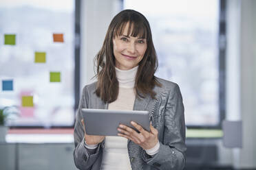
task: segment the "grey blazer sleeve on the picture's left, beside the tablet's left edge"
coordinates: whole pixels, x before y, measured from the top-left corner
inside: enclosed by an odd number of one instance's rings
[[[99,144],[99,146],[96,148],[96,151],[92,151],[92,149],[87,149],[84,146],[84,129],[83,124],[81,123],[82,117],[82,108],[88,108],[87,107],[87,90],[86,86],[83,88],[83,94],[79,101],[78,111],[76,112],[76,123],[74,125],[74,145],[75,149],[73,152],[74,156],[74,162],[78,169],[81,170],[87,170],[91,169],[92,165],[94,165],[94,162],[98,158],[100,152],[102,151],[102,147]]]

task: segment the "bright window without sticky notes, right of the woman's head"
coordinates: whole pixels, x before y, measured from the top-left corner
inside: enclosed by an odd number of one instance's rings
[[[219,1],[124,0],[145,14],[158,54],[158,77],[180,85],[186,125],[220,125]]]

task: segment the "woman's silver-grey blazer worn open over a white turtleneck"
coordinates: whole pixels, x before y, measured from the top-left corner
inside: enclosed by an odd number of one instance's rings
[[[127,143],[132,169],[175,169],[184,168],[186,151],[184,106],[178,84],[157,78],[162,84],[153,90],[156,99],[150,95],[145,98],[136,97],[134,110],[148,110],[151,113],[152,125],[158,130],[160,149],[153,157],[147,155],[144,149],[133,141]],[[98,170],[103,158],[104,142],[92,152],[84,146],[84,130],[81,123],[81,108],[107,109],[105,104],[94,93],[96,83],[83,88],[76,123],[74,127],[74,162],[78,169]],[[117,160],[118,161],[118,160]]]

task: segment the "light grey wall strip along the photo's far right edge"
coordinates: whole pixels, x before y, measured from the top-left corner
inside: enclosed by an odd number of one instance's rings
[[[240,166],[256,168],[256,1],[241,1],[241,115],[243,149]]]

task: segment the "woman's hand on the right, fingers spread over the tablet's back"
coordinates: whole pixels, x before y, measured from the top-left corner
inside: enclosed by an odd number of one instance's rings
[[[118,132],[120,133],[118,133],[118,136],[128,138],[134,143],[140,145],[143,149],[151,149],[156,146],[158,143],[158,130],[156,130],[151,124],[150,132],[147,132],[147,130],[143,129],[141,125],[138,125],[134,121],[131,121],[131,125],[134,125],[140,133],[127,125],[120,124],[118,127]]]

